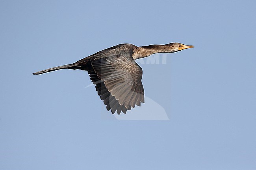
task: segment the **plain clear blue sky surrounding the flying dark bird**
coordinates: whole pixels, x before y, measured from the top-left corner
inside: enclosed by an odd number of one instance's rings
[[[255,9],[255,1],[1,0],[0,169],[255,170]],[[126,114],[167,121],[118,120],[85,71],[32,75],[116,44],[170,42],[195,48],[151,56],[166,63],[138,60],[147,100]]]

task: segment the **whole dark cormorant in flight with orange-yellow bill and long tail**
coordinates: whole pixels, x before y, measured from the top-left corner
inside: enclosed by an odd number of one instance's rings
[[[67,64],[33,73],[39,75],[58,69],[81,69],[88,71],[96,86],[100,99],[107,110],[114,114],[144,103],[144,89],[141,82],[142,68],[135,62],[139,58],[155,53],[174,53],[193,48],[181,43],[137,47],[133,44],[119,44],[85,57],[73,64]]]

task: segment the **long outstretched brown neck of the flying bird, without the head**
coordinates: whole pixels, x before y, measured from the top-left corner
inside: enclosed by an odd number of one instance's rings
[[[150,45],[150,46],[141,46],[134,50],[132,57],[134,60],[139,58],[148,57],[156,53],[172,53],[173,50],[169,49],[168,44],[165,45]]]

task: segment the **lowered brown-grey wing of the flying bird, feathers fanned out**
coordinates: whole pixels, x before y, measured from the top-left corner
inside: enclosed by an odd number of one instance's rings
[[[126,113],[135,104],[140,106],[144,102],[142,69],[130,50],[111,51],[107,57],[92,60],[88,72],[107,110]]]

